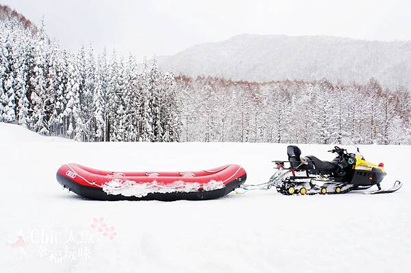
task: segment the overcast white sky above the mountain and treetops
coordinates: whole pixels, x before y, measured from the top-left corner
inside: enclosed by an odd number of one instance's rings
[[[237,34],[411,40],[410,0],[0,0],[69,49],[171,55]]]

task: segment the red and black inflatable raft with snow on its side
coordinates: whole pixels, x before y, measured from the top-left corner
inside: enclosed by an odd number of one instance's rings
[[[232,192],[247,174],[238,165],[198,172],[110,172],[65,164],[57,174],[63,187],[97,200],[206,200]]]

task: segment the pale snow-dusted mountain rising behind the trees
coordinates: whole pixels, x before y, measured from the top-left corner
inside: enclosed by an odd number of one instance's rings
[[[247,81],[284,79],[411,87],[411,42],[379,42],[333,36],[243,34],[223,42],[199,44],[158,58],[161,67],[191,77]]]

